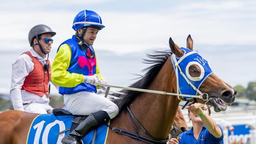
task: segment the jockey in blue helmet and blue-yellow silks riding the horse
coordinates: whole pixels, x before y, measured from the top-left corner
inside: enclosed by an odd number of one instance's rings
[[[72,26],[76,34],[59,46],[52,63],[52,81],[59,86],[67,109],[72,114],[89,115],[62,139],[63,144],[79,144],[90,127],[103,124],[119,112],[115,103],[96,94],[96,86],[93,85],[94,82],[106,83],[100,76],[92,47],[98,31],[104,27],[97,13],[80,11]]]

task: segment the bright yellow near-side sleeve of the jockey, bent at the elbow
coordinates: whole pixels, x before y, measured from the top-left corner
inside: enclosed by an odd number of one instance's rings
[[[71,49],[68,44],[59,47],[52,63],[52,82],[60,87],[75,87],[83,83],[83,75],[67,71],[71,60]]]

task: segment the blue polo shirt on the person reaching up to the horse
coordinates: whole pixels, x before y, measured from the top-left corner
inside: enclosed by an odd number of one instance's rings
[[[217,124],[218,125],[218,124]],[[223,144],[223,129],[220,125],[222,136],[220,138],[216,138],[206,129],[205,126],[202,127],[202,131],[199,134],[198,140],[195,139],[193,133],[193,127],[182,134],[180,134],[181,139],[179,140],[179,144]]]

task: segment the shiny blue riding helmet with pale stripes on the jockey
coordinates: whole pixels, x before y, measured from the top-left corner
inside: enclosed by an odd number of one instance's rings
[[[101,30],[105,26],[102,25],[102,20],[97,13],[94,11],[83,10],[74,18],[72,28],[76,31],[83,27],[93,27]]]

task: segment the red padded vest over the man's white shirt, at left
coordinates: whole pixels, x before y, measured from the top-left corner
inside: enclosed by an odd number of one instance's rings
[[[33,57],[30,52],[24,52],[23,54],[27,54],[31,57],[34,63],[34,69],[28,74],[28,76],[26,76],[21,90],[26,90],[33,94],[37,94],[38,96],[43,96],[44,94],[46,94],[46,96],[49,98],[50,96],[48,94],[48,83],[49,78],[51,78],[51,66],[49,68],[48,77],[47,70],[45,70],[45,68],[36,57]],[[47,60],[47,63],[49,63],[50,65],[49,60]]]

